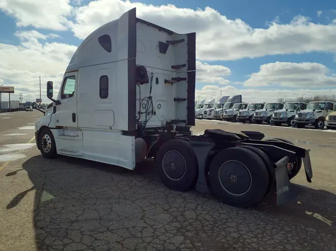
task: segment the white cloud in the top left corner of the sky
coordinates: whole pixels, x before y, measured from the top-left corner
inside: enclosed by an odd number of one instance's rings
[[[66,30],[69,0],[1,0],[0,10],[15,17],[16,26]]]

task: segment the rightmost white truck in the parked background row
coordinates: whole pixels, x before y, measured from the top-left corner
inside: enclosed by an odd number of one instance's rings
[[[316,129],[323,129],[325,127],[326,117],[334,111],[334,102],[309,102],[305,110],[298,112],[294,121],[298,128],[304,128],[306,125],[314,125]]]

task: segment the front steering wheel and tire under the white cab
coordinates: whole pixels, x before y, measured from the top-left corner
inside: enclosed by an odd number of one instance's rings
[[[54,159],[57,157],[54,135],[49,128],[44,128],[38,136],[38,146],[44,158]]]

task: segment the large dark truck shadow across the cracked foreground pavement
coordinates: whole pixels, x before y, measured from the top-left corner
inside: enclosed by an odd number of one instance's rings
[[[336,195],[295,185],[276,206],[225,205],[211,195],[165,188],[151,163],[134,171],[76,158],[23,163],[35,191],[38,250],[333,250]],[[15,172],[7,176],[15,175]],[[34,190],[34,191],[33,191]],[[299,202],[298,202],[299,201]]]

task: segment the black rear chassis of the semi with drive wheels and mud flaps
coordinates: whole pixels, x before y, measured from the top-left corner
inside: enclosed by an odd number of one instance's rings
[[[173,190],[195,188],[215,193],[225,204],[249,207],[276,188],[279,205],[295,198],[290,179],[300,171],[302,160],[307,181],[312,179],[309,149],[286,139],[262,140],[261,132],[209,129],[198,136],[157,136],[147,158],[154,157],[159,179]]]

